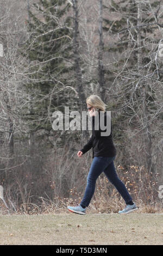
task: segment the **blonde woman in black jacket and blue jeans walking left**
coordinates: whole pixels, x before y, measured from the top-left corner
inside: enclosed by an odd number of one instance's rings
[[[80,202],[80,205],[78,206],[67,206],[67,209],[76,214],[85,214],[86,208],[89,206],[95,192],[96,180],[98,176],[104,172],[108,180],[115,186],[126,203],[126,208],[118,213],[128,214],[129,212],[136,210],[137,207],[126,186],[124,186],[116,173],[114,166],[116,149],[112,141],[112,132],[110,131],[108,136],[102,136],[102,133],[104,134],[106,129],[101,130],[102,124],[100,122],[104,120],[104,126],[107,127],[106,120],[108,120],[107,112],[105,111],[105,103],[99,96],[90,95],[86,99],[86,104],[90,117],[92,118],[92,136],[84,147],[78,151],[77,155],[78,157],[82,157],[92,148],[93,161],[91,163],[89,174],[87,175],[87,185],[82,202]],[[98,118],[98,122],[96,121],[96,118]]]

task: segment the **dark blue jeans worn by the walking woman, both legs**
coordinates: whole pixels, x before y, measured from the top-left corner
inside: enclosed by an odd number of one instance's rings
[[[117,191],[121,194],[126,204],[132,200],[126,186],[118,178],[114,166],[114,157],[108,156],[95,156],[91,163],[89,174],[87,175],[87,185],[84,197],[80,205],[89,206],[92,196],[95,192],[96,180],[98,176],[104,172],[108,180],[115,186]]]

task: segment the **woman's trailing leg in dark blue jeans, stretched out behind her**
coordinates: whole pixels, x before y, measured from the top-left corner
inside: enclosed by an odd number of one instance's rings
[[[104,170],[104,173],[106,177],[109,179],[109,181],[115,186],[117,191],[121,194],[126,204],[132,202],[132,198],[126,188],[124,186],[123,182],[118,178],[118,175],[116,173],[116,169],[114,166],[114,161],[112,161],[109,166],[107,166]]]

